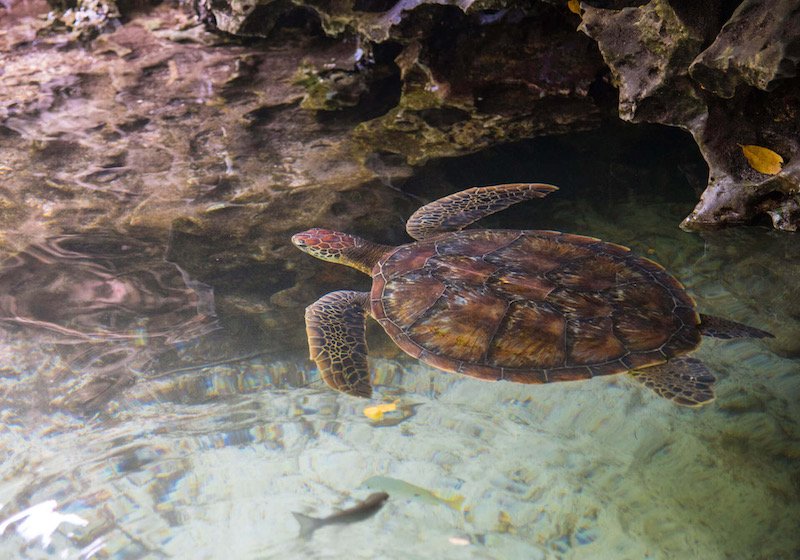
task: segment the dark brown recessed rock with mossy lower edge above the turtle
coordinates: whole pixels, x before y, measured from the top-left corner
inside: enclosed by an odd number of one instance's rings
[[[525,14],[418,8],[393,30],[402,90],[395,107],[359,125],[363,146],[411,165],[500,142],[594,127],[590,89],[603,72],[591,42],[542,4]]]

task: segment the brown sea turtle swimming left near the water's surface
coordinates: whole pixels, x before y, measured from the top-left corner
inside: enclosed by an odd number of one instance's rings
[[[630,372],[686,406],[714,398],[714,375],[684,356],[701,335],[772,335],[699,314],[660,265],[593,237],[541,230],[461,231],[557,187],[474,187],[431,202],[406,224],[414,243],[390,247],[310,229],[301,250],[372,276],[370,293],[329,293],[306,309],[311,359],[339,391],[371,395],[365,318],[405,352],[484,380],[547,383]]]

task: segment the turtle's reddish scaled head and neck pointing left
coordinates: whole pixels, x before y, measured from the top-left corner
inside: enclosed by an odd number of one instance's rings
[[[294,234],[292,243],[313,257],[346,264],[366,274],[371,273],[372,267],[388,249],[355,235],[320,228]]]

